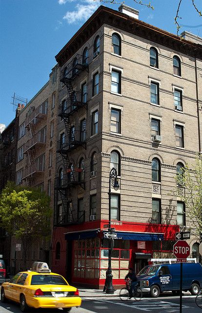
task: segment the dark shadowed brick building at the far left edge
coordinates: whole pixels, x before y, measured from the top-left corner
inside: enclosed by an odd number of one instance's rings
[[[0,192],[8,180],[15,180],[19,114],[21,110],[22,107],[18,104],[15,118],[0,134]],[[0,253],[3,255],[7,268],[10,267],[10,246],[11,237],[5,229],[0,227]]]

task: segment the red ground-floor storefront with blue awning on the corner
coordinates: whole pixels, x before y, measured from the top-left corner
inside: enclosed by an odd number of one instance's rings
[[[102,220],[57,227],[53,234],[52,271],[74,284],[102,288],[108,266],[108,240],[103,238],[107,223]],[[112,252],[113,285],[117,287],[124,285],[128,266],[138,272],[155,253],[171,255],[172,242],[179,231],[178,225],[117,221],[112,221],[112,227],[119,234]]]

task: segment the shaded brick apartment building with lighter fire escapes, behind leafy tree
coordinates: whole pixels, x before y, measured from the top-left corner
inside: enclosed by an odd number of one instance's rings
[[[16,164],[16,184],[37,186],[51,198],[54,211],[54,178],[56,168],[56,137],[58,124],[59,67],[56,65],[49,81],[22,109],[19,116],[19,133]],[[11,266],[13,271],[22,268],[22,250],[15,251],[12,238]],[[27,266],[33,261],[51,262],[51,241],[33,245]]]

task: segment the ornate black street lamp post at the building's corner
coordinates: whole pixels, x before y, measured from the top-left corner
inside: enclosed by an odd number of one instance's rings
[[[111,177],[112,177],[112,171],[111,169],[109,174],[109,229],[108,231],[111,231]],[[107,279],[107,287],[106,287],[106,293],[114,294],[114,287],[112,285],[112,262],[111,262],[111,239],[108,238],[108,268],[106,273],[106,279]]]

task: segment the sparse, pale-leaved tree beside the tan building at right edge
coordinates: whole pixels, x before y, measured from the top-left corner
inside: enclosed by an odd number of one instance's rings
[[[202,234],[202,157],[197,156],[193,168],[189,165],[176,176],[177,196],[185,203],[186,216],[190,221],[193,234],[200,240]]]

